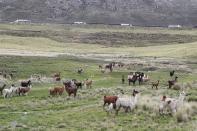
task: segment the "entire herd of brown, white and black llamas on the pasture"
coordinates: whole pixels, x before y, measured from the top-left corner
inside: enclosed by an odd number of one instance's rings
[[[106,64],[104,66],[99,65],[99,69],[105,69],[109,70],[110,72],[113,71],[114,66],[123,67],[124,65],[121,63],[110,63]],[[77,73],[81,74],[83,73],[83,69],[80,68]],[[170,72],[170,77],[172,78],[174,76],[175,71]],[[35,77],[35,76],[34,76]],[[40,76],[37,76],[39,79]],[[61,75],[60,72],[55,73],[51,76],[55,81],[61,81]],[[125,84],[125,76],[122,75],[122,84]],[[144,84],[146,82],[150,82],[150,78],[148,75],[146,75],[144,72],[130,72],[127,77],[128,85],[135,86],[136,82],[138,81],[139,85]],[[171,79],[168,82],[169,89],[173,86],[177,85],[178,77],[175,76],[174,79]],[[53,88],[49,88],[49,95],[50,96],[61,96],[64,92],[67,92],[68,96],[70,97],[73,95],[76,97],[78,89],[82,89],[82,86],[86,86],[86,88],[92,87],[92,80],[86,79],[85,81],[78,81],[76,79],[67,80],[63,82],[62,86],[55,86]],[[152,89],[156,88],[158,90],[160,80],[150,82],[152,85]],[[21,81],[20,86],[11,85],[9,89],[5,89],[6,84],[3,84],[0,86],[0,92],[1,95],[3,95],[4,98],[10,98],[12,96],[21,96],[21,95],[27,95],[28,92],[30,92],[32,88],[32,82],[31,80],[27,81]],[[112,95],[112,96],[104,96],[103,101],[103,108],[108,113],[112,113],[112,111],[115,111],[115,114],[118,115],[118,112],[120,109],[124,109],[125,112],[131,112],[136,108],[136,105],[138,103],[138,97],[141,91],[138,91],[134,89],[130,95],[128,96],[121,96],[121,95]],[[165,110],[170,110],[172,113],[176,113],[180,106],[183,105],[184,98],[186,96],[186,93],[182,91],[179,95],[179,98],[170,98],[167,96],[163,96],[162,100],[160,101],[160,105],[158,107],[159,112],[162,114]],[[106,107],[107,104],[107,107]]]

